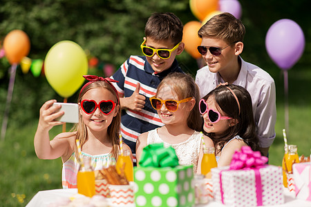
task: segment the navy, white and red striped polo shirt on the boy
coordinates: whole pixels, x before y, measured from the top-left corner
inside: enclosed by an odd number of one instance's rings
[[[140,95],[146,97],[146,103],[141,111],[130,109],[122,111],[120,132],[124,142],[132,150],[134,162],[136,161],[135,147],[138,136],[143,132],[163,126],[158,113],[151,106],[149,97],[156,95],[158,85],[170,72],[182,72],[176,59],[171,68],[156,74],[145,56],[131,56],[111,77],[119,81],[113,83],[113,86],[123,97],[131,97],[137,83],[140,83]]]

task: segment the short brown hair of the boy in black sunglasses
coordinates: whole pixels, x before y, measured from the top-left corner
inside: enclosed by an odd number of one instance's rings
[[[243,41],[245,26],[234,15],[224,12],[211,17],[204,26],[198,30],[198,36],[223,39],[228,44],[234,41]]]

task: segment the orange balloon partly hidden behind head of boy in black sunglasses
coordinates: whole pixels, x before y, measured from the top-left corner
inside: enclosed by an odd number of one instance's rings
[[[201,39],[198,37],[198,30],[201,28],[201,23],[199,21],[189,21],[185,24],[182,36],[182,42],[185,43],[185,50],[195,59],[201,57],[197,50],[200,46]]]

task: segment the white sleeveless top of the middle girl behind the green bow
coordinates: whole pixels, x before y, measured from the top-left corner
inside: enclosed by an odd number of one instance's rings
[[[147,144],[163,143],[164,147],[171,146],[176,151],[179,164],[193,165],[194,172],[196,172],[198,168],[198,157],[200,155],[200,146],[202,142],[202,135],[200,132],[194,131],[189,139],[182,141],[181,143],[168,144],[159,137],[157,130],[158,128],[148,132]]]

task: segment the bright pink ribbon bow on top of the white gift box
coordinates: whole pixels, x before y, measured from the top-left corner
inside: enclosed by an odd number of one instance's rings
[[[261,156],[261,152],[253,151],[249,146],[243,146],[241,152],[234,152],[230,164],[230,170],[241,170],[243,168],[256,168],[264,166],[267,157]]]

